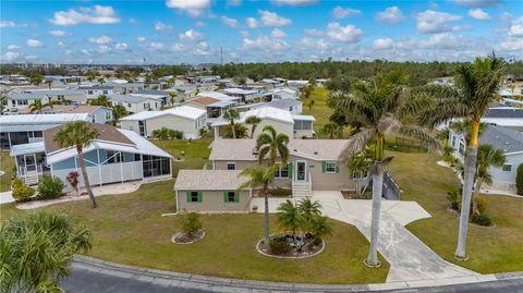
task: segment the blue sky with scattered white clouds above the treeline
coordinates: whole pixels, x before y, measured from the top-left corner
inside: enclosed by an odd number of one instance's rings
[[[1,1],[2,62],[523,59],[523,2]]]

